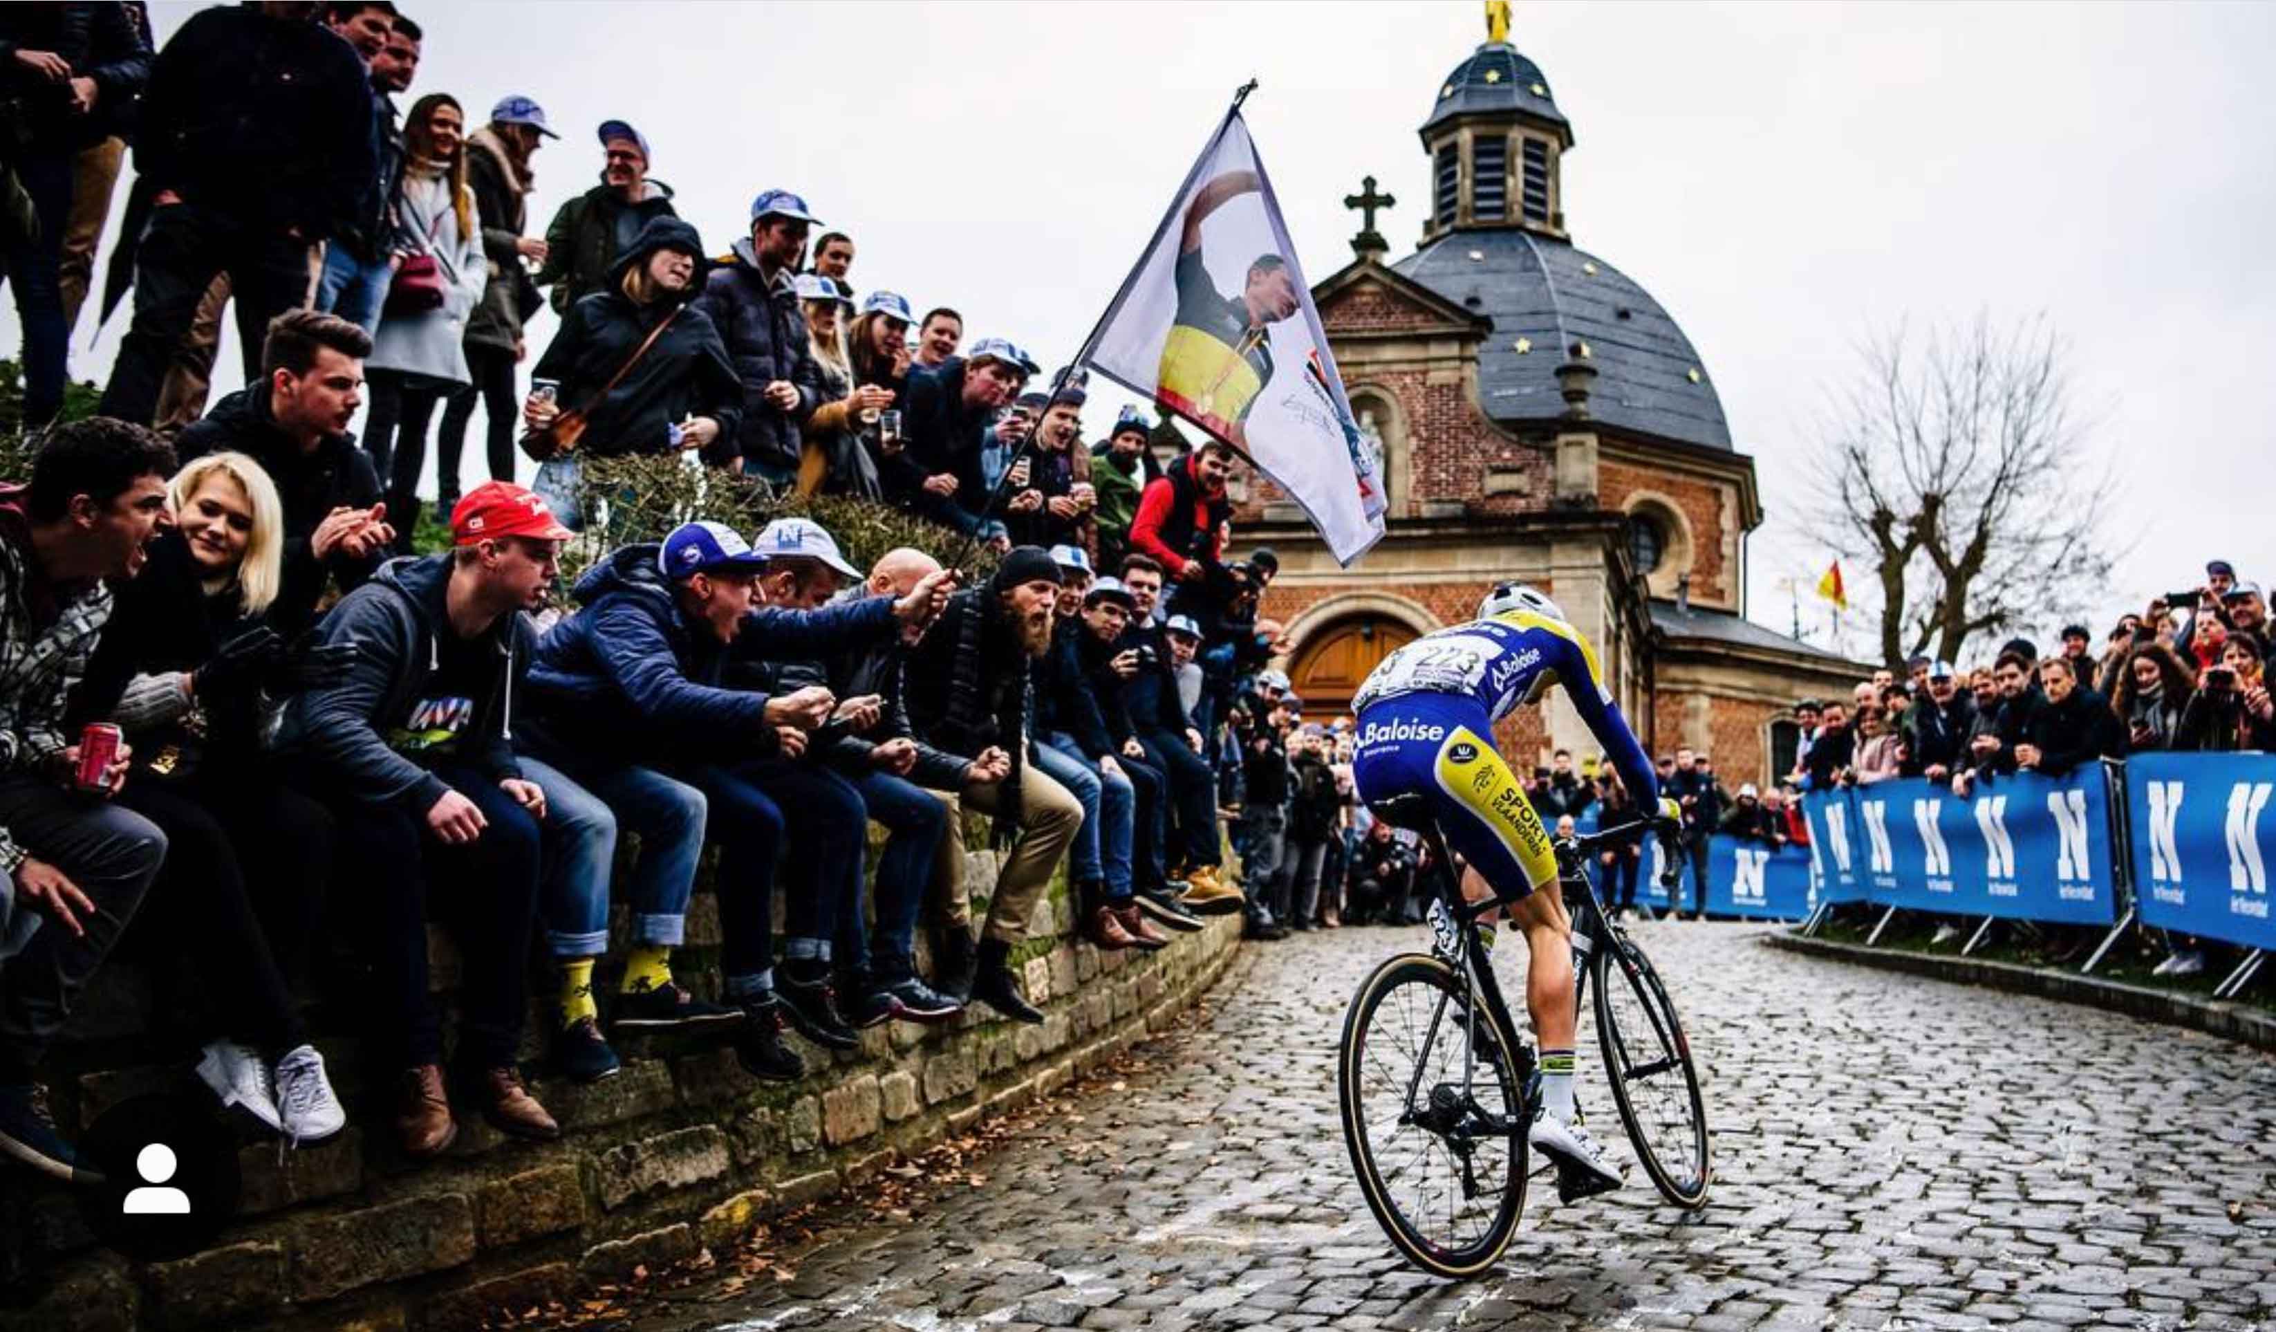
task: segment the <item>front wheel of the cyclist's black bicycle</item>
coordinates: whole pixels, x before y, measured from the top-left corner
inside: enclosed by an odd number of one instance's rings
[[[1611,936],[1595,984],[1595,1038],[1605,1079],[1636,1159],[1677,1207],[1707,1202],[1707,1102],[1691,1043],[1643,949]]]

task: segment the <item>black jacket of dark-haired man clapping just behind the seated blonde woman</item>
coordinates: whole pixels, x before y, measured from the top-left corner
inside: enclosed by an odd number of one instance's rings
[[[319,560],[310,551],[310,535],[335,508],[380,503],[380,478],[371,471],[371,455],[346,430],[325,435],[314,451],[303,453],[269,412],[266,383],[214,403],[212,412],[182,428],[173,446],[182,462],[234,449],[278,483],[284,501],[284,585],[269,608],[278,633],[300,633],[316,619],[328,576],[339,576],[339,587],[353,592],[380,567],[382,553],[355,558],[335,549]]]

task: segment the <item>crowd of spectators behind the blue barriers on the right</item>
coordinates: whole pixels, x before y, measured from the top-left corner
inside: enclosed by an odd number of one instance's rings
[[[1825,790],[1921,776],[1964,797],[2003,774],[2064,776],[2126,754],[2276,749],[2267,597],[2228,560],[2205,562],[2199,587],[2121,615],[2098,649],[2085,624],[2067,624],[2058,642],[2042,653],[2014,638],[1976,669],[1914,656],[1905,679],[1880,669],[1846,701],[1796,704],[1793,783]],[[2174,940],[2160,975],[2203,965],[2196,940]]]

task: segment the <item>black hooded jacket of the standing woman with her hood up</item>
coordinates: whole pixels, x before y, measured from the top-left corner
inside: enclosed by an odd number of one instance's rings
[[[742,421],[742,383],[726,360],[719,330],[692,296],[660,298],[633,305],[621,291],[624,276],[649,262],[655,250],[696,255],[692,289],[703,289],[703,239],[696,228],[676,216],[651,219],[633,248],[617,255],[608,287],[569,307],[562,330],[537,360],[535,378],[560,380],[562,408],[585,410],[580,453],[621,458],[628,453],[671,453],[671,426],[687,417],[719,421],[719,439],[703,451],[706,462],[735,458],[735,428]],[[660,319],[671,328],[655,339],[608,396],[596,394],[617,376]]]

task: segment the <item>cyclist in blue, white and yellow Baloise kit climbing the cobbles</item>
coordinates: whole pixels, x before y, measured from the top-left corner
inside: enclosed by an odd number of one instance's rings
[[[1525,1006],[1541,1038],[1541,1109],[1527,1138],[1557,1161],[1618,1184],[1621,1175],[1573,1120],[1573,918],[1557,881],[1557,854],[1541,815],[1493,749],[1493,724],[1561,683],[1582,722],[1634,797],[1636,808],[1675,817],[1659,797],[1643,747],[1605,690],[1595,649],[1557,603],[1518,583],[1498,585],[1477,619],[1393,651],[1359,685],[1359,756],[1352,781],[1370,806],[1400,795],[1429,801],[1445,842],[1468,861],[1466,902],[1489,895],[1525,931],[1532,968]]]

